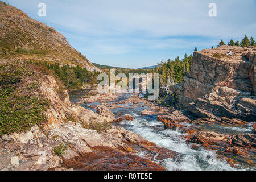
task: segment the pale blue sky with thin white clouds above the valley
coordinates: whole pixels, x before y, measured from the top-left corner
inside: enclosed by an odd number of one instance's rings
[[[216,47],[221,39],[256,39],[256,0],[2,0],[46,23],[91,62],[140,68]],[[38,16],[38,4],[46,16]],[[217,16],[210,17],[215,3]]]

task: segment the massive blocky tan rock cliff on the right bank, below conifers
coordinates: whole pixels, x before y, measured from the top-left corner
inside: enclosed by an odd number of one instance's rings
[[[199,117],[256,117],[256,49],[221,46],[195,52],[191,72],[171,90]]]

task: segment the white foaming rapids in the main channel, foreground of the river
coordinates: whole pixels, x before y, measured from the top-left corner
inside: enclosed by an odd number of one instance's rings
[[[129,130],[133,131],[154,142],[160,147],[179,153],[177,159],[155,160],[162,164],[167,170],[236,170],[225,161],[216,159],[216,152],[200,148],[193,150],[183,139],[181,133],[174,130],[156,130],[155,126],[161,125],[158,121],[147,121],[144,118],[136,118],[129,122]]]

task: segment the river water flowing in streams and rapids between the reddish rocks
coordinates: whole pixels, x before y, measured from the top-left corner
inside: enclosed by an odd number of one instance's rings
[[[78,92],[70,93],[71,101],[76,102],[77,97],[81,96]],[[129,94],[122,95],[117,98],[117,100],[113,102],[119,102],[125,100],[129,97]],[[90,103],[90,105],[95,105],[100,103]],[[122,104],[120,104],[122,105]],[[129,104],[128,104],[129,105]],[[81,106],[86,107],[86,109],[91,109],[88,107],[88,104],[81,104]],[[168,148],[169,150],[176,151],[179,153],[179,157],[177,159],[164,159],[164,160],[156,160],[155,162],[164,166],[167,170],[237,170],[237,169],[247,169],[241,166],[230,167],[230,165],[221,159],[216,159],[216,151],[205,150],[203,148],[199,148],[198,150],[193,150],[190,144],[186,143],[183,139],[180,139],[181,134],[179,131],[164,129],[163,123],[157,121],[157,115],[148,115],[142,116],[141,111],[143,109],[147,109],[145,107],[137,106],[137,108],[115,108],[111,110],[114,114],[131,114],[134,117],[134,121],[123,121],[118,123],[117,125],[124,127],[127,130],[133,131],[149,140],[157,144],[160,147]],[[95,111],[94,109],[91,109]],[[218,126],[214,128],[218,130]],[[250,129],[242,129],[239,127],[225,127],[220,128],[221,130],[226,130],[227,132],[232,131],[243,131],[250,132]],[[146,154],[143,152],[138,154],[143,157]]]

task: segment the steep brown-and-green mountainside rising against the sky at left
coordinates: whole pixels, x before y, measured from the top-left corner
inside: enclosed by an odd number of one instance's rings
[[[0,58],[80,65],[100,71],[52,27],[0,1]]]

